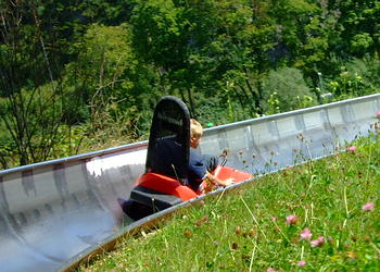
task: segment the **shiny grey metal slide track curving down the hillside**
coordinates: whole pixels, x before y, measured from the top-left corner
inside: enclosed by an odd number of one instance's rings
[[[378,122],[380,94],[205,129],[204,153],[265,173],[340,149]],[[1,271],[56,271],[150,219],[131,221],[128,198],[147,141],[0,172]],[[237,185],[238,186],[238,185]],[[165,211],[161,212],[165,213]],[[155,215],[153,215],[154,218]]]

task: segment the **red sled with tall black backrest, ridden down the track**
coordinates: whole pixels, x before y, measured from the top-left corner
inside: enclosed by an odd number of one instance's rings
[[[161,140],[175,139],[179,148],[172,158],[157,158]],[[156,104],[149,138],[145,173],[136,181],[129,200],[119,199],[123,211],[138,220],[157,211],[193,199],[214,189],[203,182],[194,191],[187,183],[190,143],[190,114],[186,104],[175,97],[163,97]],[[170,157],[170,156],[168,156]],[[167,161],[167,171],[157,161]],[[220,180],[233,178],[236,183],[252,180],[250,173],[225,166],[226,160],[214,171]]]

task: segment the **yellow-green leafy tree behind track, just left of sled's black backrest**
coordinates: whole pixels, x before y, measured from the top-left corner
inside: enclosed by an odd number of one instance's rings
[[[72,48],[78,58],[66,65],[66,84],[87,106],[83,109],[91,124],[89,133],[103,134],[101,141],[112,135],[138,138],[141,103],[152,89],[141,85],[152,72],[136,59],[129,26],[93,24]]]

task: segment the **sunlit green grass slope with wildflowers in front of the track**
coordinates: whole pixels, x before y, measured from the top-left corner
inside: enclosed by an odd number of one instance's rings
[[[379,271],[380,141],[370,138],[207,197],[79,271]],[[325,243],[302,239],[306,227]]]

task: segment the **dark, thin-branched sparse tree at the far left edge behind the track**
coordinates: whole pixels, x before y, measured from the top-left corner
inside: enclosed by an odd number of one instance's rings
[[[59,77],[63,53],[56,48],[54,22],[45,32],[41,12],[34,1],[5,1],[0,9],[0,118],[8,132],[4,140],[17,150],[12,159],[21,165],[51,156],[68,101]],[[7,168],[9,154],[0,156]]]

